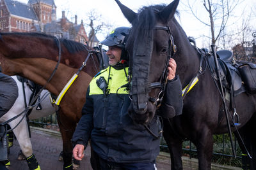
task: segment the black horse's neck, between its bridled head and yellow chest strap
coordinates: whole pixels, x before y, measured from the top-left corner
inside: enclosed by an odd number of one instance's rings
[[[185,87],[188,85],[189,81],[196,76],[200,59],[177,20],[172,20],[169,25],[174,43],[177,46],[177,52],[173,57],[177,63],[177,74],[180,76],[182,87]]]

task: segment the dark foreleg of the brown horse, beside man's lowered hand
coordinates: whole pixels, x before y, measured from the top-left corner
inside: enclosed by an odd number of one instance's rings
[[[61,111],[58,113],[58,124],[63,141],[63,169],[72,170],[72,145],[71,139],[76,129],[76,122],[70,121]]]

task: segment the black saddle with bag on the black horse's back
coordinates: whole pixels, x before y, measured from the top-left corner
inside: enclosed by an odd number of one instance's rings
[[[218,57],[218,64],[220,66],[221,82],[226,94],[225,98],[228,101],[231,101],[231,105],[234,106],[233,97],[241,94],[242,92],[255,94],[256,64],[234,60],[233,53],[228,50],[221,50],[216,53]],[[214,79],[218,80],[212,55],[208,55],[207,61]]]

